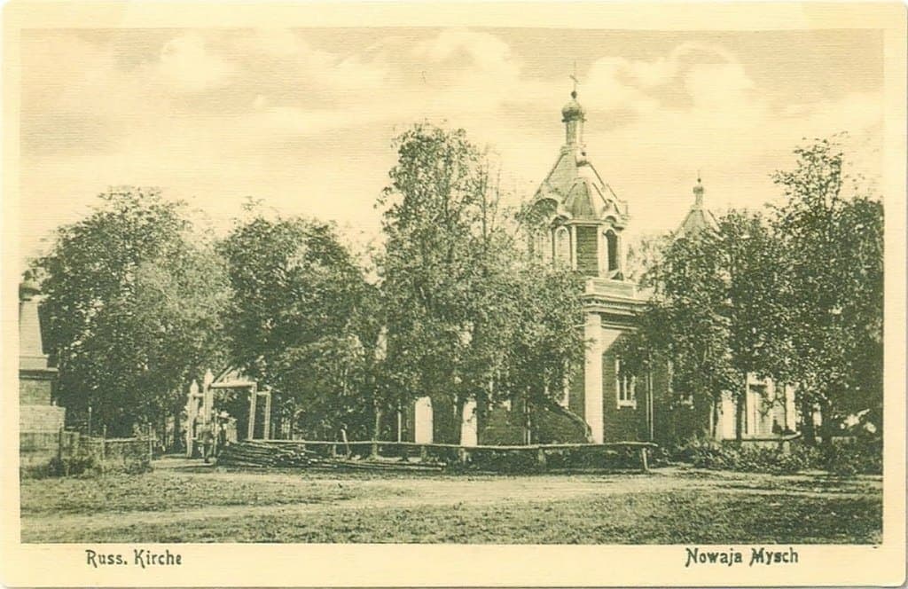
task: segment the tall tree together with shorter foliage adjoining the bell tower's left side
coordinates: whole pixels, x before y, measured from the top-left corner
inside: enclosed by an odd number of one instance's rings
[[[416,125],[395,145],[380,201],[388,377],[401,404],[431,392],[452,407],[439,429],[459,442],[468,401],[481,417],[517,394],[528,403],[560,397],[582,351],[581,289],[529,262],[519,217],[501,205],[489,158],[463,130]]]

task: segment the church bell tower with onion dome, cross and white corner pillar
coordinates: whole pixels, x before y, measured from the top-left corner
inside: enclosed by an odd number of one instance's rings
[[[575,80],[575,76],[571,76]],[[644,304],[625,279],[627,203],[617,197],[587,157],[587,112],[577,87],[561,109],[565,143],[530,207],[530,247],[542,260],[587,277],[584,287],[584,364],[566,391],[568,409],[583,417],[591,441],[640,439],[648,429],[648,397],[637,404],[633,377],[620,370],[617,342],[633,328]],[[641,387],[643,388],[643,387]]]

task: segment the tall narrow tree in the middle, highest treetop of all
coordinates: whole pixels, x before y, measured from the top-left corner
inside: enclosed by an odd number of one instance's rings
[[[488,175],[462,130],[416,125],[395,146],[398,164],[380,199],[386,206],[380,269],[390,380],[401,402],[423,392],[442,393],[455,414],[446,437],[458,441],[464,389],[473,388],[471,376],[488,368],[466,357],[487,334],[481,321],[473,324],[478,301],[472,295],[484,292],[477,282],[488,269],[477,264],[488,245],[481,243],[489,235],[489,217],[483,216]]]

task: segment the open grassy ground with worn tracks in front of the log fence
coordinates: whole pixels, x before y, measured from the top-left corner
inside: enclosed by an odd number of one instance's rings
[[[652,474],[226,471],[25,480],[22,540],[459,544],[874,544],[882,482]]]

